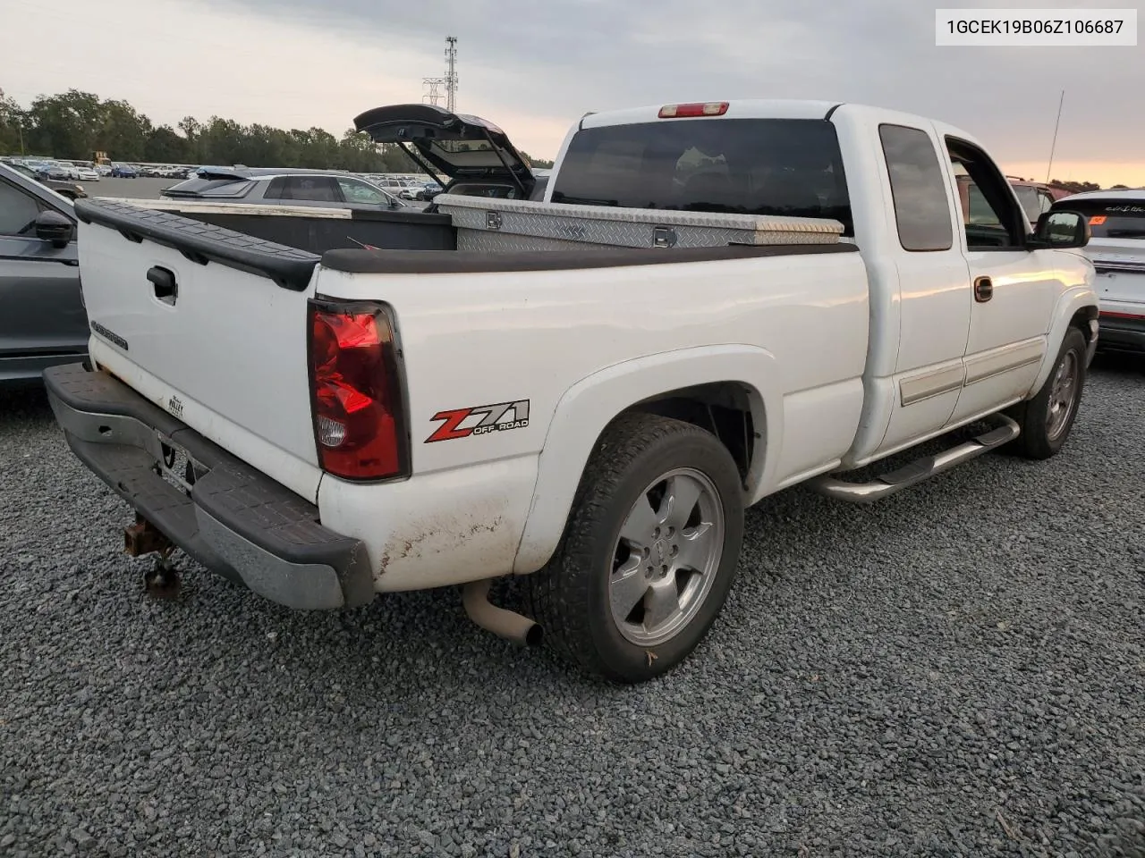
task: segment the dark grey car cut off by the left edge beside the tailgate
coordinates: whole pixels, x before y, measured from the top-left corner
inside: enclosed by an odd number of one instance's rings
[[[87,356],[70,200],[0,165],[0,382]]]

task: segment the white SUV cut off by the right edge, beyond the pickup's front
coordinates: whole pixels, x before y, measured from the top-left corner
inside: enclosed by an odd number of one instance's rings
[[[1074,193],[1052,210],[1089,220],[1085,253],[1097,269],[1101,348],[1145,352],[1145,190]]]

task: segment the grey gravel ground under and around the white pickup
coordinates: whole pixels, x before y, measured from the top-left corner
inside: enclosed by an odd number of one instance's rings
[[[768,499],[701,651],[635,689],[453,591],[151,601],[42,394],[0,437],[6,858],[1145,856],[1145,365],[1095,371],[1050,462]]]

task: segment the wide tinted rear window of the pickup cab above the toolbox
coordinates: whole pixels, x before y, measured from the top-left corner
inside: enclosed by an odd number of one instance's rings
[[[553,202],[830,217],[851,227],[835,126],[821,119],[680,119],[583,128]]]

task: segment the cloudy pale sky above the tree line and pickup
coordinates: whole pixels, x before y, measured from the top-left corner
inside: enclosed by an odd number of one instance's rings
[[[922,113],[1010,175],[1145,185],[1145,47],[935,47],[934,7],[1110,8],[1118,0],[3,0],[0,88],[69,88],[157,124],[221,116],[341,135],[420,102],[458,39],[457,109],[553,158],[587,111],[815,98]],[[1123,6],[1131,3],[1121,2]],[[113,29],[112,29],[113,27]],[[34,34],[49,32],[50,47]],[[1143,42],[1145,45],[1145,42]]]

